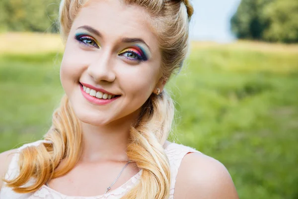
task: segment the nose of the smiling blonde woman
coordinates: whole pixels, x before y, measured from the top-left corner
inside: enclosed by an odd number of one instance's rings
[[[116,78],[113,71],[113,60],[109,53],[103,53],[88,66],[87,73],[95,82],[113,82]]]

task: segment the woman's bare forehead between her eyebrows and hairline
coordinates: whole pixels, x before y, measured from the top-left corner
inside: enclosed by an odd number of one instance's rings
[[[88,0],[78,13],[73,26],[89,25],[97,29],[103,40],[122,37],[142,38],[150,46],[157,40],[149,13],[138,5],[125,5],[120,0]]]

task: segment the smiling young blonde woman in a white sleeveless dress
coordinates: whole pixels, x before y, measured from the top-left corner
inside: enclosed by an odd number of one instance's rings
[[[237,199],[220,162],[166,141],[192,14],[189,0],[62,0],[66,95],[43,140],[0,155],[0,198]]]

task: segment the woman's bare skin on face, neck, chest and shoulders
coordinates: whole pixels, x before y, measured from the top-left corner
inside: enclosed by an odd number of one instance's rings
[[[152,93],[157,93],[157,88],[162,91],[165,84],[160,79],[160,49],[148,18],[146,10],[135,5],[126,6],[118,0],[90,0],[74,20],[60,78],[82,123],[84,151],[74,169],[50,181],[50,188],[68,196],[101,195],[128,161],[126,147],[130,125],[135,122],[142,104]],[[88,38],[81,39],[82,35]],[[146,44],[123,42],[124,37],[141,38]],[[125,53],[126,49],[136,50],[136,46],[144,49],[146,61],[128,59],[135,55]],[[120,95],[120,98],[106,105],[93,104],[82,96],[79,82]],[[166,141],[164,148],[168,144]],[[8,152],[0,154],[0,161],[7,163],[10,160]],[[7,166],[0,166],[2,176]],[[138,172],[136,165],[129,164],[111,191]],[[209,176],[208,173],[215,174]],[[215,183],[218,180],[223,183]],[[183,158],[174,197],[237,198],[224,166],[197,153]]]

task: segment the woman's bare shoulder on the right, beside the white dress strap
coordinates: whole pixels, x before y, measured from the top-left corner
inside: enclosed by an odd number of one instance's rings
[[[175,199],[239,199],[224,165],[200,153],[182,159],[175,183]]]

